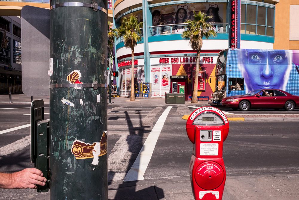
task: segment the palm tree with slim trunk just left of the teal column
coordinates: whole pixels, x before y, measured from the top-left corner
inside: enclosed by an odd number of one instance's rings
[[[132,67],[131,67],[131,96],[130,101],[135,101],[134,93],[134,48],[137,42],[141,40],[140,34],[143,22],[138,22],[135,15],[131,14],[129,18],[124,17],[120,27],[118,27],[118,37],[123,36],[123,41],[126,48],[131,48],[132,51]]]

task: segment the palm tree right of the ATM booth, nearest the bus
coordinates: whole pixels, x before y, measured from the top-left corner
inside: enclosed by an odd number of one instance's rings
[[[205,37],[208,39],[209,37],[215,37],[217,33],[212,29],[212,25],[207,23],[207,20],[212,18],[211,16],[207,16],[205,13],[198,12],[194,13],[194,21],[186,20],[184,23],[187,24],[187,29],[182,33],[182,38],[185,40],[190,40],[189,44],[193,50],[197,51],[196,55],[196,70],[195,77],[198,76],[199,71],[199,55],[200,50],[202,49],[202,38]],[[192,103],[197,103],[197,88],[198,88],[198,78],[195,78],[194,81],[194,89],[192,95]]]

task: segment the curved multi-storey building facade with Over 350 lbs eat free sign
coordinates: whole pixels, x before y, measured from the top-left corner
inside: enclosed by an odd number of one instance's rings
[[[181,33],[185,30],[184,20],[193,19],[193,11],[212,16],[209,22],[217,32],[216,37],[203,40],[198,96],[210,96],[214,91],[215,84],[209,78],[215,75],[221,50],[274,49],[275,40],[280,40],[275,37],[276,6],[283,4],[279,0],[116,0],[112,4],[116,28],[123,17],[131,14],[144,22],[142,40],[135,47],[134,82],[151,83],[152,97],[163,98],[170,93],[170,76],[176,75],[187,76],[185,94],[192,95],[196,51]],[[131,49],[124,46],[122,38],[115,43],[115,55],[119,93],[129,96]]]

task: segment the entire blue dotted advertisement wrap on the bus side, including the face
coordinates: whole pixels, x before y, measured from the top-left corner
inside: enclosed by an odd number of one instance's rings
[[[228,96],[255,89],[280,89],[299,95],[298,65],[299,51],[295,50],[229,49],[227,77],[238,77],[244,84],[242,90]]]

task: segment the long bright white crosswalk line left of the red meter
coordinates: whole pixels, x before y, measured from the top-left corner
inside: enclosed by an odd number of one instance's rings
[[[123,181],[136,181],[144,179],[144,173],[147,169],[150,159],[152,158],[152,153],[154,152],[158,137],[171,108],[172,106],[168,106],[159,117]]]

